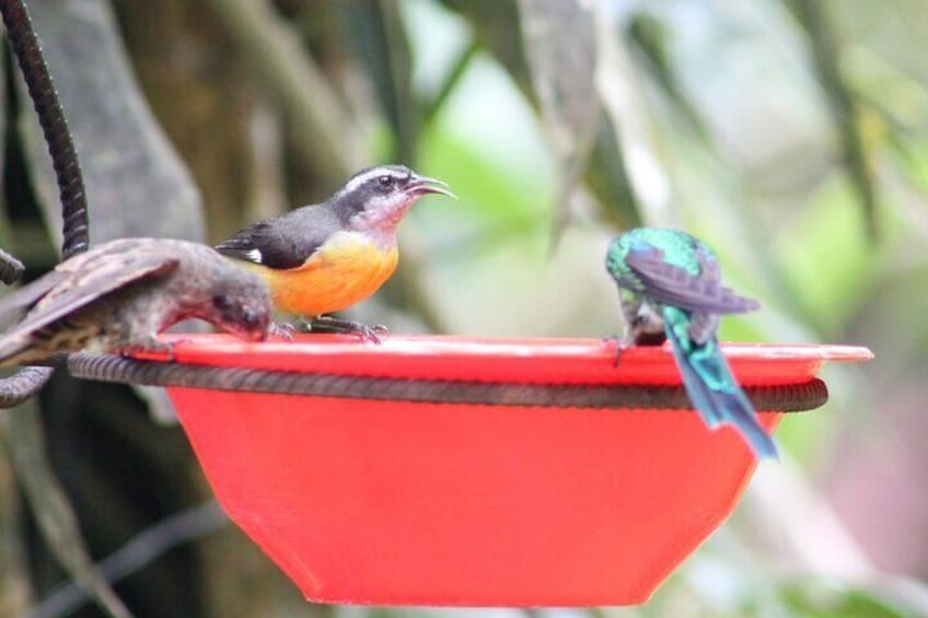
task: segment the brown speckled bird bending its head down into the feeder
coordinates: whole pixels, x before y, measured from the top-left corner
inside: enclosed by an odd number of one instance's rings
[[[208,246],[167,238],[120,238],[77,255],[0,301],[0,317],[26,307],[0,337],[0,366],[80,350],[170,353],[155,336],[187,318],[264,340],[271,311],[257,275]]]

